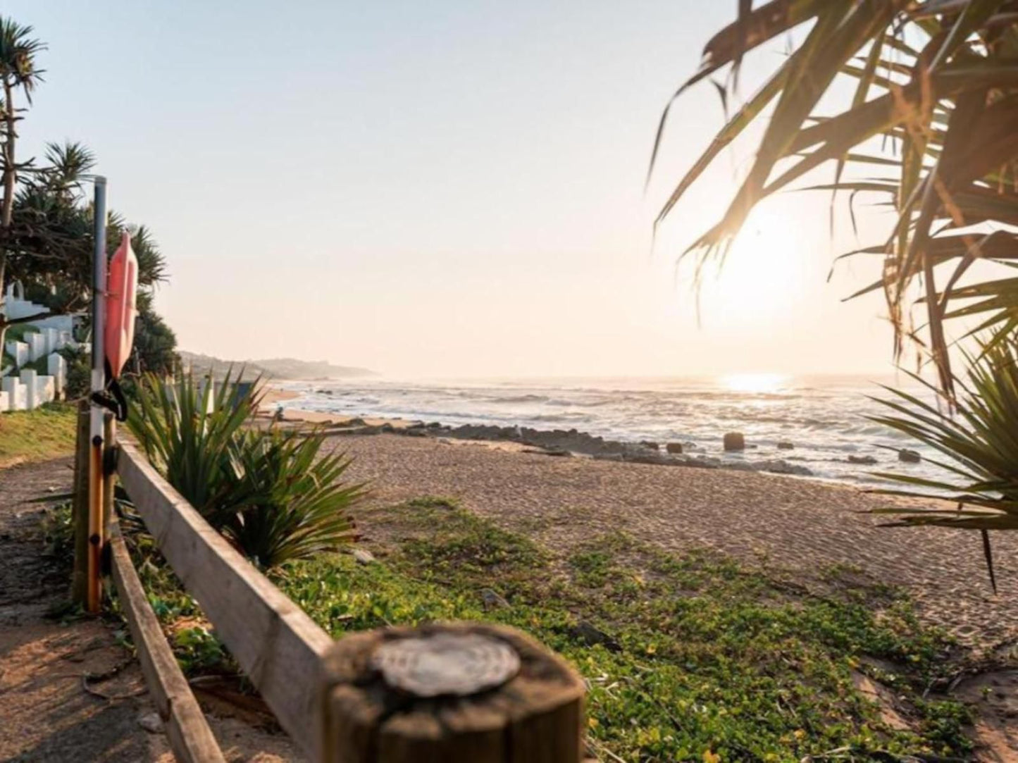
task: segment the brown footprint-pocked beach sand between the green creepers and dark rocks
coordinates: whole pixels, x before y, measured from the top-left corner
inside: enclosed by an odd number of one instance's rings
[[[936,528],[876,528],[859,511],[887,499],[851,487],[758,473],[619,464],[507,452],[395,435],[335,438],[356,455],[351,474],[376,501],[452,495],[567,553],[625,530],[681,550],[710,546],[813,575],[856,565],[906,587],[920,612],[966,643],[1018,636],[1018,534],[993,534],[1000,595],[989,588],[979,536]]]

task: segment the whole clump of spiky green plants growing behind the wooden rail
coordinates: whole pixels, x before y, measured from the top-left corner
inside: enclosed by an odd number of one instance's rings
[[[256,564],[272,567],[336,550],[354,537],[349,507],[361,485],[342,481],[350,461],[322,455],[324,437],[245,427],[258,382],[199,390],[148,375],[128,425],[167,481]]]

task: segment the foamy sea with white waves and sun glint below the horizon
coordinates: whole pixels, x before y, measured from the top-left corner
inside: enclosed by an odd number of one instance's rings
[[[882,379],[917,392],[908,377]],[[870,378],[781,377],[770,374],[717,378],[497,379],[287,382],[299,396],[287,407],[340,416],[385,417],[447,425],[519,425],[576,429],[606,439],[681,442],[686,452],[726,461],[784,459],[814,478],[865,484],[874,472],[943,476],[925,460],[906,464],[897,450],[932,451],[867,419],[886,412],[870,395],[888,397]],[[921,394],[921,392],[918,392]],[[926,393],[928,397],[928,392]],[[726,453],[726,432],[742,432],[747,449]],[[779,449],[778,442],[794,444]],[[872,456],[878,464],[849,462]]]

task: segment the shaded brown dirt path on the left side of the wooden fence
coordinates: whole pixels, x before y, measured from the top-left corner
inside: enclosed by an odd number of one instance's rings
[[[26,501],[68,491],[70,468],[60,459],[0,471],[0,761],[171,763],[121,623],[54,616],[66,609],[69,573],[46,556],[44,509]],[[227,760],[301,760],[281,732],[217,709],[210,725]]]

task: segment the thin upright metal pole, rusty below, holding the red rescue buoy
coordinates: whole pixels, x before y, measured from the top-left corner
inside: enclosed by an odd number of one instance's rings
[[[103,346],[106,325],[106,178],[95,178],[95,239],[96,251],[92,280],[92,391],[102,392],[106,386]],[[92,403],[89,419],[89,581],[87,608],[98,612],[101,606],[103,552],[103,408]]]

